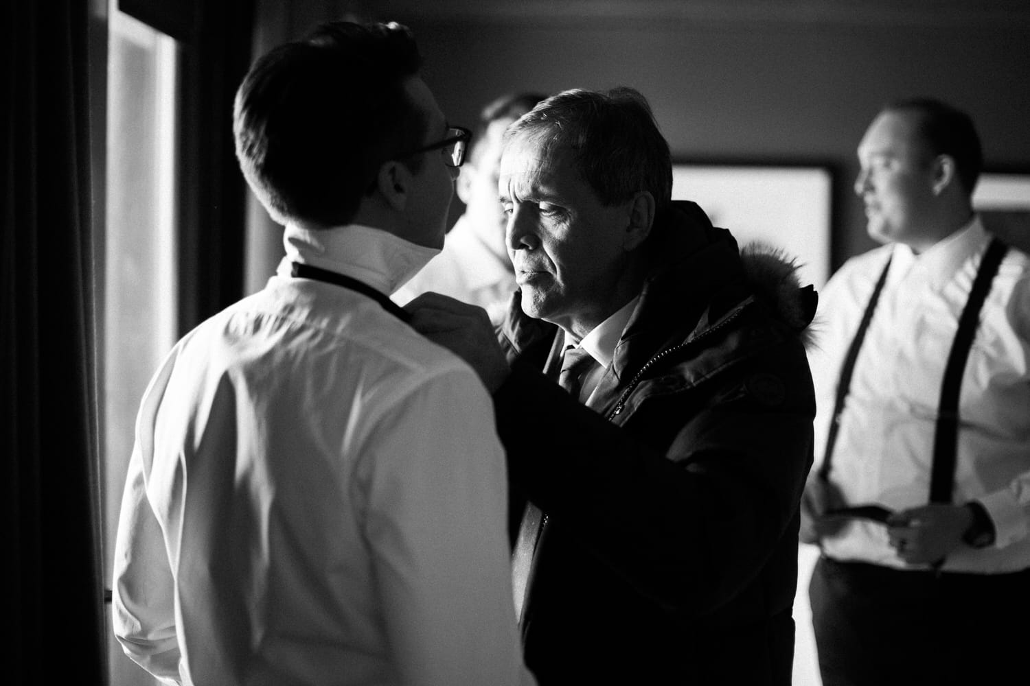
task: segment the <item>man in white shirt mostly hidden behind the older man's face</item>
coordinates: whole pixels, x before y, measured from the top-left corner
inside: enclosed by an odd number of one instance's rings
[[[508,218],[497,198],[501,141],[505,130],[545,97],[507,94],[480,112],[456,184],[465,212],[447,231],[443,252],[393,294],[396,302],[403,305],[433,291],[485,309],[494,323],[504,319],[515,290],[515,270],[505,247]]]

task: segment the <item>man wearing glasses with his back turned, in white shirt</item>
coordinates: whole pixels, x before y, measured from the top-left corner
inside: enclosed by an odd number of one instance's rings
[[[388,297],[443,246],[469,140],[419,62],[404,27],[334,23],[237,93],[286,256],[141,404],[113,625],[166,683],[533,683],[489,396]]]

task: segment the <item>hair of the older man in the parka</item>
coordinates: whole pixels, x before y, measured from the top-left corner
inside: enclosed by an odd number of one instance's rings
[[[633,88],[574,88],[551,96],[508,129],[506,146],[515,138],[536,141],[544,159],[570,149],[583,179],[607,207],[642,190],[654,196],[659,212],[672,201],[668,143],[647,99]]]

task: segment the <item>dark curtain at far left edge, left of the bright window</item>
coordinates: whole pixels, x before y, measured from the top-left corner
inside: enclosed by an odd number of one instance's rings
[[[4,683],[104,683],[89,11],[0,10]]]

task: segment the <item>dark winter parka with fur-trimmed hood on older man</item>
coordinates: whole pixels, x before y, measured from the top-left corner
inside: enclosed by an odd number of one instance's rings
[[[513,514],[546,514],[522,623],[543,686],[790,683],[816,294],[674,205],[588,406],[548,377],[560,330],[517,296],[501,329]]]

